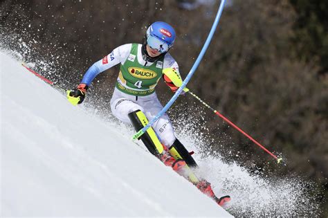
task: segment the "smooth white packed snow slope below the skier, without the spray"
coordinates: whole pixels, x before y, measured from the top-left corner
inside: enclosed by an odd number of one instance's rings
[[[115,125],[1,60],[1,217],[231,217]]]

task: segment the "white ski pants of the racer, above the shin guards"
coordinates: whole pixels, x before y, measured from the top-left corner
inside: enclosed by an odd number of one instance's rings
[[[138,109],[143,111],[150,121],[163,109],[163,106],[159,102],[156,93],[152,93],[149,96],[136,97],[122,93],[122,91],[115,88],[111,97],[111,112],[116,118],[122,122],[131,123],[127,115]],[[170,118],[166,113],[154,122],[152,128],[156,131],[163,145],[170,147],[174,143],[176,138]]]

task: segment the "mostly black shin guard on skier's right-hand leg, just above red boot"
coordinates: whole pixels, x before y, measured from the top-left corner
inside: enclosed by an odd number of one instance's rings
[[[198,167],[196,161],[194,161],[194,158],[192,158],[191,154],[187,149],[185,149],[177,138],[174,140],[173,145],[169,148],[169,152],[175,159],[183,159],[188,166]]]

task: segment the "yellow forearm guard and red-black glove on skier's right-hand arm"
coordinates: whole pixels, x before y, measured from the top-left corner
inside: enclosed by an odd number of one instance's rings
[[[165,84],[167,84],[173,92],[176,92],[183,83],[180,73],[172,68],[163,69],[163,79]],[[188,91],[189,89],[184,88],[181,95],[184,95]]]

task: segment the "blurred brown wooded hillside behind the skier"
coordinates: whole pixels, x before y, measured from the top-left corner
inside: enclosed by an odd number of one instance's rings
[[[5,0],[1,1],[1,47],[17,51],[34,69],[67,89],[122,44],[141,43],[154,21],[177,34],[170,51],[183,78],[208,36],[219,1],[211,0]],[[177,100],[175,126],[197,120],[208,138],[204,149],[220,152],[250,172],[296,174],[317,184],[327,217],[328,196],[328,1],[228,0],[219,27],[188,87],[259,140],[268,154],[190,96]],[[1,72],[6,73],[6,72]],[[118,75],[98,75],[89,89],[94,107],[109,111]],[[163,105],[172,93],[160,82]]]

